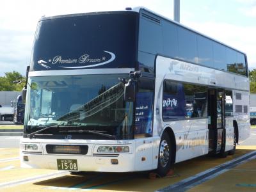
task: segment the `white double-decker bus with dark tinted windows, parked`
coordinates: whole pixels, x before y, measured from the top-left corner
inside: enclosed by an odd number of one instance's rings
[[[42,17],[22,167],[164,176],[250,136],[246,54],[146,8]]]

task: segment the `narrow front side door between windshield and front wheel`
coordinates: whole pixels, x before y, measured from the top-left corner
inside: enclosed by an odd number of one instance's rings
[[[142,171],[152,168],[154,79],[140,77],[137,90],[134,121],[135,169]]]

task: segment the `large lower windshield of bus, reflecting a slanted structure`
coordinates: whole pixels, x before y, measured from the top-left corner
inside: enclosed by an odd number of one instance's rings
[[[132,138],[132,102],[124,101],[122,74],[29,77],[25,134],[84,134],[86,139]],[[77,132],[76,132],[77,131]],[[97,131],[102,135],[90,134]]]

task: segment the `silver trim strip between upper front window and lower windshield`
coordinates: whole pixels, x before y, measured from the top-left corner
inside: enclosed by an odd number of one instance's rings
[[[134,68],[99,68],[99,69],[74,69],[74,70],[40,70],[29,72],[29,77],[39,76],[77,76],[95,74],[129,74]]]

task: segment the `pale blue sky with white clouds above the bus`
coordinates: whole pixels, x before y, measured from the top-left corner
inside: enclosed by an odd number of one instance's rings
[[[26,74],[36,25],[43,15],[144,6],[173,19],[173,0],[1,0],[0,76]],[[247,54],[256,68],[256,0],[180,0],[180,23]]]

